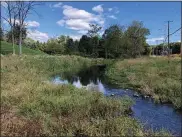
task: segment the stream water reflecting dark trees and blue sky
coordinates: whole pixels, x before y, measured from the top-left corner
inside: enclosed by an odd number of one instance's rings
[[[103,73],[104,65],[92,66],[89,69],[80,71],[76,75],[63,74],[64,79],[60,75],[53,78],[55,84],[71,83],[77,88],[86,87],[90,91],[102,92],[105,96],[121,97],[128,95],[135,104],[132,106],[132,117],[138,119],[145,129],[159,131],[164,128],[175,136],[182,136],[181,122],[182,113],[174,110],[170,104],[155,104],[153,99],[136,97],[135,91],[129,89],[120,89],[112,85],[106,84]]]

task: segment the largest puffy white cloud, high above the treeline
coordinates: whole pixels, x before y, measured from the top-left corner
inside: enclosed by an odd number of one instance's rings
[[[60,26],[65,25],[66,28],[78,30],[78,33],[80,33],[89,30],[89,24],[97,23],[104,25],[105,20],[102,15],[95,15],[69,5],[64,5],[62,8],[64,17],[57,22]]]

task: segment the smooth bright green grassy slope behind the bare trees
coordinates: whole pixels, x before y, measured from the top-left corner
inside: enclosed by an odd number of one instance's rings
[[[1,54],[12,54],[13,53],[13,47],[11,43],[1,41]],[[18,45],[15,45],[15,54],[19,53],[19,47]],[[29,55],[43,55],[45,54],[42,51],[39,50],[33,50],[27,47],[22,46],[22,53],[23,54],[29,54]]]

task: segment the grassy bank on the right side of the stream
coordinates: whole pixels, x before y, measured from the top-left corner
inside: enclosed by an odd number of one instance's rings
[[[109,82],[123,88],[133,88],[152,95],[156,102],[181,104],[181,58],[137,58],[118,61],[111,65],[106,76]]]

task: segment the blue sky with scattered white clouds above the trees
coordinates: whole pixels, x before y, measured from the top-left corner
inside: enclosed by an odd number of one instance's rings
[[[93,23],[102,27],[102,35],[110,25],[127,27],[137,20],[150,30],[147,43],[155,45],[167,36],[166,21],[173,21],[170,33],[181,27],[180,2],[42,2],[35,10],[38,15],[32,12],[26,19],[28,37],[41,42],[60,35],[79,39]],[[6,9],[1,11],[6,16]],[[2,26],[7,28],[7,22],[2,21]],[[181,41],[180,32],[172,35],[170,41]]]

